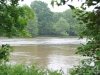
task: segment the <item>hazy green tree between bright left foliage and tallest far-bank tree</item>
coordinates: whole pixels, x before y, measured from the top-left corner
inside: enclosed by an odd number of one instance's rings
[[[32,35],[32,37],[38,35],[38,18],[36,17],[36,15],[34,16],[34,20],[29,20],[26,29]]]

